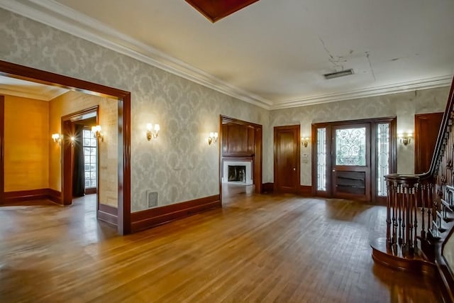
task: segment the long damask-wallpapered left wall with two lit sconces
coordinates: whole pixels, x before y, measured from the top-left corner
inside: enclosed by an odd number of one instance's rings
[[[3,9],[0,39],[1,60],[131,92],[132,211],[148,207],[147,190],[158,192],[160,206],[219,193],[219,151],[206,138],[220,114],[267,127],[265,109]],[[161,131],[148,142],[150,122]]]

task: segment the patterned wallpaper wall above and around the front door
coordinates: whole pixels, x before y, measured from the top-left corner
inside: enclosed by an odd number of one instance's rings
[[[397,116],[397,131],[413,131],[414,115],[445,111],[449,87],[424,89],[421,91],[388,94],[378,97],[331,102],[293,109],[279,109],[270,112],[267,130],[268,140],[272,142],[273,127],[292,124],[301,125],[301,136],[311,136],[311,124],[318,122],[345,121],[355,119]],[[301,162],[301,184],[311,184],[311,145],[301,146],[302,153],[309,153],[309,162]],[[272,145],[265,146],[266,158],[263,167],[272,180]],[[414,172],[414,144],[397,145],[397,172]]]

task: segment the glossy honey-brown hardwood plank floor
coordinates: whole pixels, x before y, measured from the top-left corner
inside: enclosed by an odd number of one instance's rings
[[[375,265],[385,208],[238,193],[129,236],[94,204],[0,208],[0,302],[442,302]]]

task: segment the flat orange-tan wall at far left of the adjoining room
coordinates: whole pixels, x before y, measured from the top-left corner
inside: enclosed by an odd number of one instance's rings
[[[49,104],[5,96],[5,192],[49,187]]]

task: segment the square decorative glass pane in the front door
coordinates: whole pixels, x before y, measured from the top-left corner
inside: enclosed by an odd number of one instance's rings
[[[366,128],[336,129],[336,165],[366,165]]]

